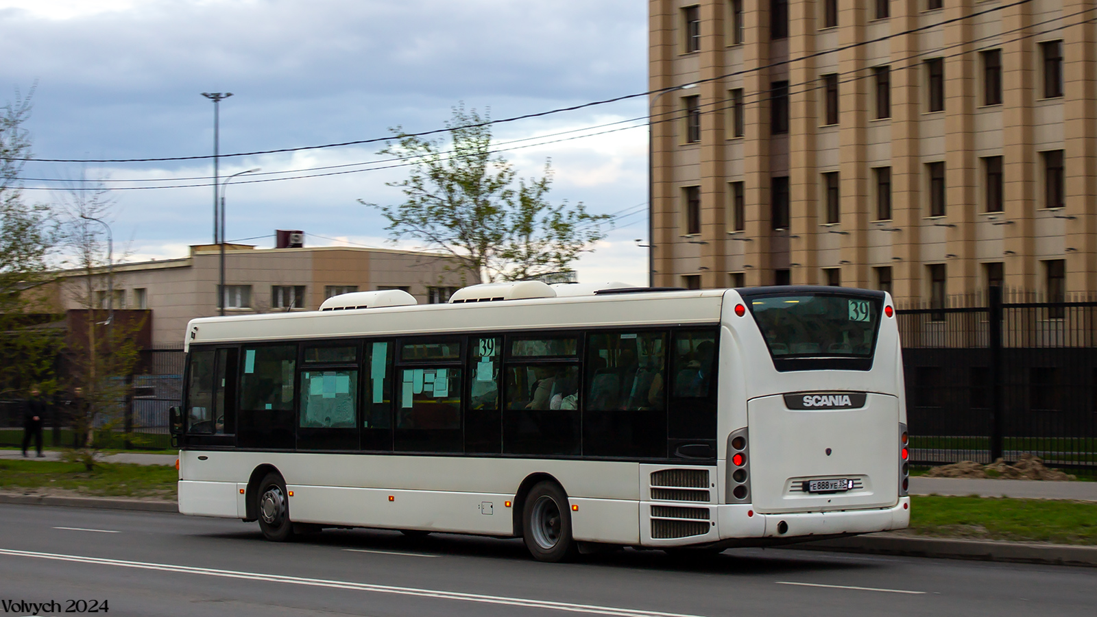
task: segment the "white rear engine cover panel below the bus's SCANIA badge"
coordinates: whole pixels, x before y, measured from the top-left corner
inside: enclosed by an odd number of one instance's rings
[[[869,394],[858,410],[789,410],[781,395],[747,403],[750,492],[759,513],[891,507],[898,500],[898,400]],[[848,479],[845,493],[805,493],[807,480]]]

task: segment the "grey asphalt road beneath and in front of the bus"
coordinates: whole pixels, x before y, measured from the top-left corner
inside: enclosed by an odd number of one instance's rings
[[[1097,569],[773,549],[551,564],[512,539],[327,530],[275,545],[237,520],[0,505],[0,599],[106,601],[111,617],[1092,616]]]

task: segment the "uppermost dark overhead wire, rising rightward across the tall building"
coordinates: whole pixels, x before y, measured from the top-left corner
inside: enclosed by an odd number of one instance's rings
[[[787,59],[787,60],[778,60],[776,63],[770,63],[768,65],[761,65],[761,66],[757,66],[757,67],[753,67],[753,68],[748,68],[748,69],[742,69],[742,70],[733,71],[733,72],[725,74],[725,75],[717,76],[717,77],[710,77],[710,78],[706,78],[706,79],[700,79],[700,80],[694,81],[694,83],[705,83],[705,82],[710,82],[710,81],[717,81],[717,80],[726,79],[728,77],[735,77],[735,76],[745,75],[745,74],[748,74],[748,72],[757,72],[757,71],[760,71],[760,70],[769,69],[769,68],[774,68],[774,67],[779,67],[779,66],[783,66],[783,65],[789,65],[789,64],[792,64],[792,63],[798,63],[798,61],[803,61],[803,60],[807,60],[807,59],[811,59],[811,58],[816,58],[816,57],[819,57],[819,56],[823,56],[823,55],[826,55],[826,54],[840,53],[840,52],[845,52],[847,49],[852,49],[852,48],[856,48],[856,47],[861,47],[861,46],[870,45],[870,44],[873,44],[873,43],[880,43],[880,42],[883,42],[883,41],[889,41],[891,38],[896,38],[896,37],[900,37],[900,36],[906,36],[908,34],[915,34],[915,33],[923,32],[923,31],[926,31],[926,30],[932,30],[932,29],[938,27],[938,26],[948,25],[950,23],[955,23],[955,22],[959,22],[959,21],[969,20],[969,19],[972,19],[972,18],[976,18],[976,16],[980,16],[980,15],[987,14],[987,13],[992,13],[992,12],[996,12],[996,11],[1002,11],[1002,10],[1005,10],[1005,9],[1010,9],[1010,8],[1014,8],[1014,7],[1019,7],[1021,4],[1027,4],[1027,3],[1031,2],[1031,1],[1032,0],[1017,0],[1016,2],[1011,2],[1009,4],[999,4],[997,7],[992,7],[989,9],[985,9],[983,11],[976,11],[974,13],[970,13],[970,14],[966,14],[966,15],[960,15],[958,18],[952,18],[952,19],[943,20],[943,21],[936,22],[936,23],[932,23],[932,24],[926,24],[926,25],[913,27],[913,29],[909,29],[909,30],[905,30],[903,32],[896,32],[896,33],[884,35],[884,36],[879,36],[877,38],[870,38],[868,41],[860,41],[860,42],[857,42],[857,43],[850,43],[849,45],[844,45],[841,47],[837,47],[837,48],[834,48],[834,49],[827,49],[825,52],[813,52],[811,54],[799,56],[796,58],[790,58],[790,59]],[[624,101],[624,100],[629,100],[629,99],[635,99],[635,98],[638,98],[638,97],[648,97],[651,94],[657,94],[657,93],[661,93],[661,92],[669,91],[669,90],[676,90],[676,89],[678,89],[677,86],[669,87],[669,88],[660,88],[660,89],[656,89],[656,90],[647,90],[647,91],[644,91],[644,92],[634,92],[632,94],[622,94],[622,96],[612,97],[612,98],[609,98],[609,99],[601,99],[601,100],[597,100],[597,101],[589,101],[589,102],[586,102],[586,103],[579,103],[579,104],[576,104],[576,105],[568,105],[568,106],[563,106],[563,108],[556,108],[556,109],[541,111],[541,112],[533,112],[533,113],[527,113],[527,114],[521,114],[521,115],[514,115],[514,116],[504,117],[504,119],[499,119],[499,120],[489,120],[489,121],[486,121],[486,122],[479,122],[479,123],[474,123],[474,124],[466,124],[466,125],[462,125],[462,126],[453,126],[453,127],[444,127],[444,128],[433,128],[433,130],[430,130],[430,131],[420,131],[418,133],[404,133],[404,134],[400,134],[398,136],[372,137],[372,138],[367,138],[367,139],[354,139],[354,141],[350,141],[350,142],[323,144],[323,145],[317,145],[317,146],[298,146],[298,147],[293,147],[293,148],[275,148],[275,149],[269,149],[269,150],[252,150],[252,152],[245,152],[245,153],[225,154],[225,155],[219,155],[219,156],[222,158],[241,157],[241,156],[257,156],[257,155],[264,155],[264,154],[280,154],[280,153],[292,153],[292,152],[303,152],[303,150],[317,150],[317,149],[336,148],[336,147],[353,146],[353,145],[362,145],[362,144],[375,144],[375,143],[380,143],[380,142],[388,142],[388,141],[392,141],[394,138],[399,138],[399,137],[425,137],[427,135],[437,135],[439,133],[445,133],[445,132],[453,131],[453,130],[477,128],[477,127],[490,126],[490,125],[495,125],[495,124],[504,124],[504,123],[509,123],[509,122],[517,122],[517,121],[520,121],[520,120],[529,120],[529,119],[532,119],[532,117],[543,117],[543,116],[546,116],[546,115],[553,115],[553,114],[557,114],[557,113],[564,113],[564,112],[569,112],[569,111],[577,111],[577,110],[581,110],[581,109],[586,109],[586,108],[591,108],[591,106],[597,106],[597,105],[604,105],[604,104],[608,104],[608,103],[615,103],[615,102],[620,102],[620,101]],[[214,156],[213,155],[201,155],[201,156],[173,156],[173,157],[152,157],[152,158],[103,158],[103,159],[91,159],[91,158],[88,158],[88,159],[71,159],[71,158],[70,159],[65,159],[65,158],[12,158],[11,160],[25,160],[25,161],[39,161],[39,162],[158,162],[158,161],[167,161],[167,160],[204,160],[204,159],[210,159],[210,158],[214,158]]]

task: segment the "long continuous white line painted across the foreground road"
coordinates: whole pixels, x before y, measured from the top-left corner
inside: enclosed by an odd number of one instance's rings
[[[417,587],[397,587],[393,585],[374,585],[371,583],[355,583],[352,581],[330,581],[325,579],[305,579],[302,576],[286,576],[282,574],[264,574],[262,572],[240,572],[236,570],[215,570],[212,568],[194,568],[191,565],[174,565],[171,563],[151,563],[145,561],[124,561],[121,559],[104,559],[99,557],[82,557],[75,554],[59,554],[49,552],[21,551],[12,549],[0,549],[0,556],[30,557],[34,559],[46,559],[50,561],[69,561],[75,563],[90,563],[95,565],[116,565],[118,568],[133,568],[137,570],[156,570],[160,572],[177,572],[182,574],[201,574],[204,576],[217,576],[222,579],[241,579],[246,581],[264,581],[270,583],[286,583],[293,585],[306,585],[312,587],[329,587],[336,590],[352,590],[362,592],[374,592],[382,594],[396,594],[406,596],[434,597],[440,599],[459,599],[464,602],[476,602],[480,604],[500,604],[507,606],[524,606],[529,608],[543,608],[550,610],[563,610],[567,613],[587,613],[595,615],[612,615],[614,617],[701,617],[698,615],[686,615],[681,613],[660,613],[657,610],[642,610],[638,608],[623,608],[618,606],[598,606],[592,604],[573,604],[568,602],[552,602],[546,599],[532,599],[524,597],[508,597],[484,594],[470,594],[462,592],[448,592],[443,590],[425,590]]]

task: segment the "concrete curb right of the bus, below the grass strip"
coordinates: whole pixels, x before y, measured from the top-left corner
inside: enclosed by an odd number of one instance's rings
[[[972,559],[1049,565],[1097,566],[1097,547],[1039,545],[1028,542],[987,542],[950,538],[916,538],[895,534],[872,534],[789,545],[787,549],[808,549],[872,554],[900,554],[936,559]]]

